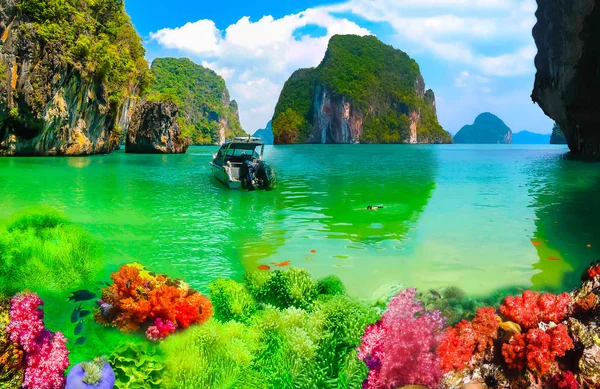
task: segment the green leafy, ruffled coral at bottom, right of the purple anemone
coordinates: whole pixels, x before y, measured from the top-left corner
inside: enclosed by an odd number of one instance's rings
[[[163,386],[164,357],[149,343],[123,343],[109,358],[116,389],[158,389]]]

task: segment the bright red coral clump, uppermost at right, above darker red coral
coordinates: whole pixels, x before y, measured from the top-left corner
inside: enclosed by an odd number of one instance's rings
[[[568,313],[572,298],[561,295],[542,294],[526,290],[522,296],[507,297],[500,306],[500,313],[524,329],[536,328],[539,323],[560,323]]]

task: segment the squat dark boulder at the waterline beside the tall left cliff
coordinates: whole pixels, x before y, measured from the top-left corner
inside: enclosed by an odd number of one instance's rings
[[[125,151],[137,154],[185,153],[189,139],[177,124],[179,109],[174,103],[142,101],[133,111]]]

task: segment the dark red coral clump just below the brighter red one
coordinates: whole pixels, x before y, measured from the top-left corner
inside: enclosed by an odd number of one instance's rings
[[[515,334],[508,344],[502,346],[502,355],[511,369],[527,367],[540,375],[556,366],[556,358],[574,347],[564,324],[547,330],[532,329],[526,334]]]

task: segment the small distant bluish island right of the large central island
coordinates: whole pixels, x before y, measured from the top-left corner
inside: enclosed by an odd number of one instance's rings
[[[473,124],[461,128],[454,136],[454,143],[511,144],[512,131],[496,115],[485,112]]]

